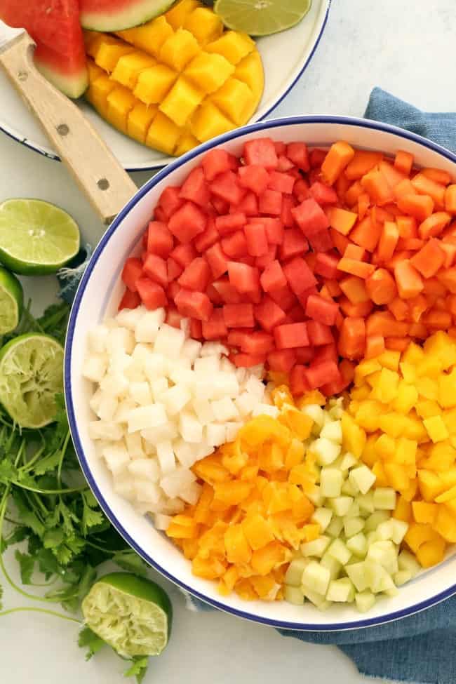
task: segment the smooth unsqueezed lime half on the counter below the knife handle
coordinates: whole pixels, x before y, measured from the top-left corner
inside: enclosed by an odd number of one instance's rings
[[[79,228],[66,211],[39,199],[0,204],[0,262],[25,276],[55,273],[79,252]]]

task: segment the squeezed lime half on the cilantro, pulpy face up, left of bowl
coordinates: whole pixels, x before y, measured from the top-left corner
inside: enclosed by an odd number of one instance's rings
[[[53,337],[27,333],[0,350],[0,403],[20,427],[51,423],[62,389],[63,347]]]

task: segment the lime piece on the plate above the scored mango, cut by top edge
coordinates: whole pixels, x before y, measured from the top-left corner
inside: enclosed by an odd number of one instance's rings
[[[311,0],[216,0],[214,11],[229,29],[269,36],[302,20]]]

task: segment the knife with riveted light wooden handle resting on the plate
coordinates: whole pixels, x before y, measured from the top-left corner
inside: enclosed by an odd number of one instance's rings
[[[12,29],[0,20],[0,65],[108,225],[137,187],[81,110],[36,69],[34,48],[24,29]]]

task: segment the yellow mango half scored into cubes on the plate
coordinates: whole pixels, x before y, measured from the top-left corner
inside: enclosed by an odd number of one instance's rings
[[[86,32],[86,99],[130,138],[179,156],[242,126],[263,93],[260,53],[197,0],[116,36]]]

